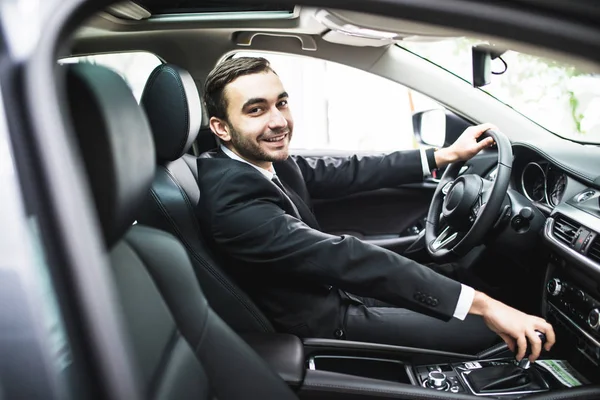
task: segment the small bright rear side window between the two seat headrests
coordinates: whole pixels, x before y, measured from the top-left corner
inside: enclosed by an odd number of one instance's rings
[[[157,56],[145,51],[92,54],[59,61],[61,64],[78,62],[103,65],[116,71],[127,82],[138,103],[152,70],[162,64]]]

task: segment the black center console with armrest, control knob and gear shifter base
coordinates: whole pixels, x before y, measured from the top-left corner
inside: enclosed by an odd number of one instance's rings
[[[282,334],[245,337],[305,399],[600,398],[597,386],[567,389],[537,363],[522,368],[506,348],[485,358],[443,351]],[[564,391],[564,393],[562,393]],[[573,395],[573,397],[571,396]]]

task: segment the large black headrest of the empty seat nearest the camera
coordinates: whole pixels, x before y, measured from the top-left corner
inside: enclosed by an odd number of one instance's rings
[[[67,99],[107,247],[139,212],[154,177],[150,125],[125,81],[91,64],[68,65]]]

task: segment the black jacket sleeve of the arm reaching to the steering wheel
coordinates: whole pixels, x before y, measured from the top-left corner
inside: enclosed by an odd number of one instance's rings
[[[419,150],[365,157],[296,156],[294,160],[313,199],[341,197],[423,181]]]

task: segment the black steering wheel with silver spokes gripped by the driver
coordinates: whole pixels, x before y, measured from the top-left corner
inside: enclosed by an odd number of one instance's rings
[[[427,251],[436,261],[467,254],[492,228],[504,202],[512,170],[512,146],[502,132],[487,130],[498,147],[498,172],[494,182],[479,175],[460,175],[465,164],[450,164],[438,184],[425,226]],[[439,232],[439,233],[438,233]]]

